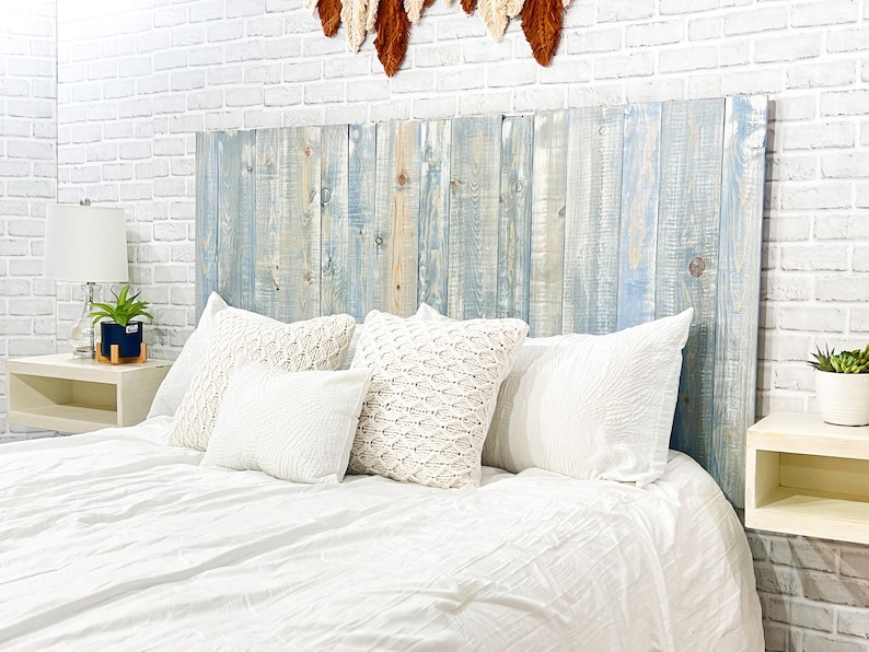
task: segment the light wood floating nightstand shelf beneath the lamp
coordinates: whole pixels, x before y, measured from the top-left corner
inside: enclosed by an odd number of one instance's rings
[[[7,360],[7,421],[60,432],[132,426],[172,362],[100,364],[70,353]]]

